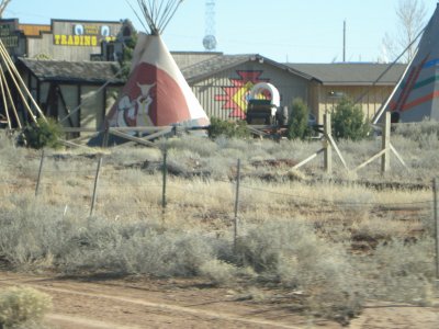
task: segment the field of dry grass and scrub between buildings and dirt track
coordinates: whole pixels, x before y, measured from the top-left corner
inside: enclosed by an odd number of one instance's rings
[[[428,304],[434,293],[429,180],[438,145],[431,134],[402,138],[395,146],[404,146],[410,171],[384,177],[379,163],[357,173],[337,167],[328,177],[322,160],[292,172],[291,163],[319,143],[161,140],[169,169],[165,211],[160,150],[105,150],[93,217],[93,151],[47,151],[35,200],[40,154],[0,138],[0,262],[22,271],[201,275],[248,291],[266,285],[301,291],[303,307],[342,321],[359,311],[363,298]],[[376,147],[375,140],[340,143],[350,166]],[[238,158],[243,180],[234,249]]]

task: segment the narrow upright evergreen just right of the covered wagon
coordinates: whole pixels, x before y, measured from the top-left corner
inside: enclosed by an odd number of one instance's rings
[[[312,134],[308,125],[308,107],[302,99],[293,101],[293,109],[288,123],[286,137],[289,139],[305,139]]]

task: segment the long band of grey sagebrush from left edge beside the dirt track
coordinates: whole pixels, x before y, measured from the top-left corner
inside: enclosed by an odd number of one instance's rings
[[[15,269],[192,276],[212,259],[202,232],[167,230],[155,222],[64,217],[48,205],[21,207],[0,214],[0,259]]]

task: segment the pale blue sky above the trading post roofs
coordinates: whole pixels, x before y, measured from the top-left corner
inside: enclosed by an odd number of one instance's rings
[[[136,0],[130,0],[136,5]],[[218,52],[260,54],[278,61],[330,63],[342,59],[347,22],[347,60],[375,61],[385,33],[396,34],[398,0],[216,0]],[[424,0],[427,19],[436,0]],[[50,19],[131,19],[125,0],[12,0],[3,18],[49,24]],[[184,0],[164,32],[170,50],[203,50],[205,0]]]

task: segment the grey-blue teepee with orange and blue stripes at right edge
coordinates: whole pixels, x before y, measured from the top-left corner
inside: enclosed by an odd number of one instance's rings
[[[439,4],[387,111],[395,122],[439,121]]]

